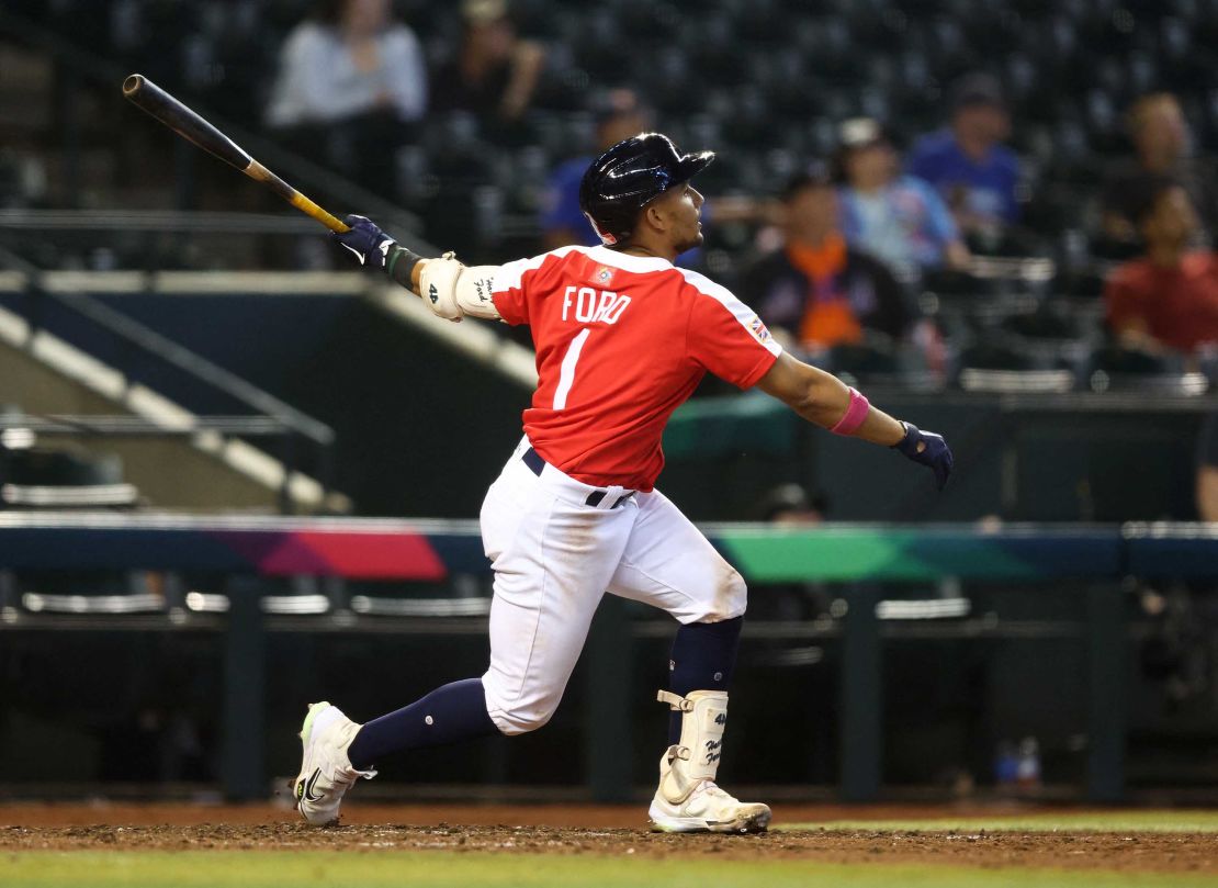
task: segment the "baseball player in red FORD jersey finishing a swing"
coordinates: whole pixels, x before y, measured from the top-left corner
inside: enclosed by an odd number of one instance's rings
[[[487,491],[482,542],[495,570],[491,663],[359,725],[314,703],[301,730],[300,812],[337,819],[343,793],[384,756],[485,735],[519,735],[554,714],[605,591],[680,624],[659,700],[669,744],[649,817],[669,832],[761,832],[769,806],[721,789],[727,688],[744,580],[655,488],[664,425],[708,372],[759,386],[838,435],[951,471],[943,437],[900,423],[834,376],[800,363],[722,286],[672,259],[702,242],[691,179],[714,160],[664,135],[621,141],[588,167],[580,203],[602,246],[568,246],[504,266],[425,259],[370,220],[336,235],[362,264],[421,294],[441,318],[527,324],[537,391],[524,437]],[[428,381],[424,381],[426,385]]]

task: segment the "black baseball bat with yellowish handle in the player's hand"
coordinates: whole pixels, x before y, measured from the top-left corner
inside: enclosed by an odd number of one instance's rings
[[[132,74],[123,80],[123,95],[133,105],[146,111],[183,139],[189,139],[203,151],[236,167],[255,181],[261,181],[302,213],[313,217],[331,231],[342,233],[351,230],[340,219],[325,212],[317,203],[253,160],[245,149],[144,77],[144,74]]]

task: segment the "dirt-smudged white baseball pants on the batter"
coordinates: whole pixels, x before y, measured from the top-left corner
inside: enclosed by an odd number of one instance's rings
[[[653,604],[678,621],[741,616],[744,580],[659,491],[596,491],[524,463],[527,439],[482,503],[482,546],[495,569],[486,708],[505,735],[532,731],[558,708],[605,591]]]

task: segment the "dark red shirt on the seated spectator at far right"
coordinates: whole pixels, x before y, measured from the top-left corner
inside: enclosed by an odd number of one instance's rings
[[[1104,295],[1117,329],[1141,320],[1151,336],[1181,352],[1218,341],[1218,253],[1189,253],[1178,268],[1127,262]]]

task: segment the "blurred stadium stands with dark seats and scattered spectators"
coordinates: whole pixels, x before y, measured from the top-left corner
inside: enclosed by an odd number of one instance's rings
[[[418,212],[426,240],[470,261],[593,244],[580,178],[622,138],[659,129],[687,150],[716,150],[700,180],[708,242],[682,264],[739,291],[789,347],[833,369],[959,368],[952,350],[968,347],[993,369],[1061,365],[983,342],[976,318],[951,329],[933,311],[942,301],[928,303],[928,294],[994,292],[1010,270],[987,266],[994,257],[1051,257],[1052,291],[1100,297],[1106,346],[1123,354],[1075,367],[1080,378],[1218,367],[1218,178],[1192,138],[1201,127],[1213,141],[1218,105],[1180,97],[1201,71],[1190,40],[1203,27],[1185,27],[1188,4],[1139,7],[1142,22],[1086,5],[920,18],[878,4],[877,18],[767,0],[758,22],[787,15],[782,43],[734,7],[702,21],[674,4],[13,0],[13,10],[72,39],[105,28],[107,54]],[[1096,28],[1089,61],[1079,39]],[[876,56],[892,33],[905,49]],[[736,60],[723,55],[733,37],[752,48]],[[1002,48],[993,58],[989,37]],[[766,41],[772,50],[759,54]],[[19,85],[19,58],[4,61]],[[1073,71],[1089,85],[1055,93],[1072,66],[1090,66]],[[839,86],[816,85],[826,83]],[[1160,83],[1177,91],[1155,91]],[[1114,96],[1140,96],[1123,121]],[[13,132],[0,145],[0,203],[37,206],[48,168]],[[1069,220],[1046,222],[1062,202],[1077,205]],[[1017,330],[1027,339],[1060,318],[1023,320],[1035,328]],[[1077,325],[1073,335],[1083,339]]]

